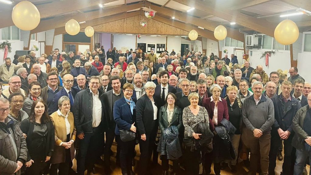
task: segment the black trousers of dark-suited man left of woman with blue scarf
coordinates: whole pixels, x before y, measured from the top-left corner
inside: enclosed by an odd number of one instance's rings
[[[110,157],[111,157],[111,154],[110,154],[111,146],[112,146],[112,143],[114,142],[114,138],[116,135],[114,134],[114,130],[108,130],[105,132],[105,136],[106,136],[106,142],[105,142],[105,148],[104,148],[104,164],[106,167],[109,167]],[[119,160],[119,157],[120,157],[120,148],[119,148],[119,144],[117,144],[117,156],[116,156],[117,161]]]

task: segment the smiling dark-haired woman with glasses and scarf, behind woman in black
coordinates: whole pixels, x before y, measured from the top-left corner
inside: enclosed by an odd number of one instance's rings
[[[31,82],[28,86],[28,91],[29,95],[25,99],[23,111],[30,115],[32,103],[34,103],[38,99],[41,99],[41,84],[39,82]]]

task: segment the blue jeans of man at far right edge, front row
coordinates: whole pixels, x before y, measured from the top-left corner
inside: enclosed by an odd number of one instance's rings
[[[299,149],[296,150],[296,162],[294,166],[294,175],[301,175],[304,171],[304,164],[309,156],[311,162],[311,146],[307,143],[304,143],[304,151]],[[309,175],[311,175],[311,170]]]

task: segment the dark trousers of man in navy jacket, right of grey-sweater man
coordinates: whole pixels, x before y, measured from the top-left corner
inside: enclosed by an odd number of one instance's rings
[[[294,133],[283,140],[284,143],[284,162],[282,165],[283,175],[292,175],[294,173],[294,164],[296,160],[296,149],[291,145]],[[276,158],[280,146],[280,136],[277,130],[271,130],[271,147],[269,152],[269,175],[274,175],[276,167]]]

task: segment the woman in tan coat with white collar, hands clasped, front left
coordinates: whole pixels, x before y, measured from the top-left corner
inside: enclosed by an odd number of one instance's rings
[[[51,115],[55,128],[55,146],[51,157],[50,175],[68,174],[74,158],[76,129],[73,114],[70,112],[70,100],[67,96],[58,100],[58,111]],[[57,173],[58,170],[58,173]]]

